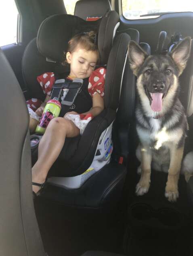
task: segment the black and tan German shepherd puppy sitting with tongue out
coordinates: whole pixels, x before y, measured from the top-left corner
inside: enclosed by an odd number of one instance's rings
[[[185,110],[178,99],[178,77],[190,55],[191,38],[180,41],[166,55],[147,55],[130,41],[130,67],[137,77],[136,130],[140,145],[136,155],[141,161],[141,178],[136,194],[143,195],[150,186],[151,167],[168,172],[165,196],[178,198],[178,179],[188,130]]]

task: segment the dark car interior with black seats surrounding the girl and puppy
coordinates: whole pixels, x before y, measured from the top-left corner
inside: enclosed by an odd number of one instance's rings
[[[126,0],[9,2],[18,15],[16,42],[0,46],[0,255],[191,256],[193,177],[186,182],[180,174],[176,202],[164,196],[165,172],[153,170],[148,193],[135,193],[136,76],[128,44],[134,40],[148,55],[168,51],[175,35],[193,37],[193,10],[161,12],[147,0],[149,13],[138,18],[133,10],[129,18]],[[29,132],[26,101],[44,100],[37,76],[69,73],[61,64],[69,39],[93,29],[99,67],[106,68],[105,109],[81,136],[66,139],[68,150],[61,151],[34,200],[31,168],[42,134]],[[189,124],[186,155],[193,150],[193,45],[179,80]]]

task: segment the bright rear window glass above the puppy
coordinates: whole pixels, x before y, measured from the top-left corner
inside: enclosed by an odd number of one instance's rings
[[[159,17],[158,13],[191,11],[193,2],[190,0],[122,0],[122,12],[126,19],[150,19]]]

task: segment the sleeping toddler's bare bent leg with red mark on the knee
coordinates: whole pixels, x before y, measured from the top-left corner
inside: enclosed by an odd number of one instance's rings
[[[80,130],[72,121],[64,118],[54,118],[46,128],[38,147],[38,161],[32,168],[32,180],[36,183],[44,183],[48,171],[56,161],[63,148],[66,137],[76,137]],[[38,186],[32,186],[37,193]]]

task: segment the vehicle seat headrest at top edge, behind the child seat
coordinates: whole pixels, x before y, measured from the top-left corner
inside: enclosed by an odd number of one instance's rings
[[[109,0],[79,0],[74,8],[74,15],[87,20],[91,17],[103,17],[107,10],[112,10]]]

